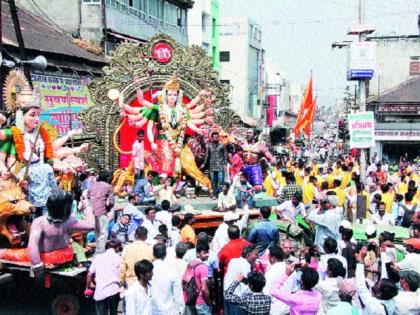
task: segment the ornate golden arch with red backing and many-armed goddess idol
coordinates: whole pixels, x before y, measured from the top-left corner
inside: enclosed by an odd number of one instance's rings
[[[211,189],[197,167],[203,144],[210,130],[229,130],[240,118],[229,109],[229,88],[219,82],[204,50],[160,34],[142,45],[121,44],[104,73],[90,85],[95,105],[80,114],[85,133],[95,137],[87,162],[128,167],[141,129],[151,169],[186,174]]]

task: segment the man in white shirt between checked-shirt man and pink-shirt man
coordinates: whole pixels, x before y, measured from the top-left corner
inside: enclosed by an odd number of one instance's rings
[[[272,245],[269,248],[268,259],[270,267],[265,273],[265,287],[263,293],[269,295],[275,288],[277,282],[286,272],[286,263],[284,262],[284,254],[278,245]],[[286,315],[290,313],[290,307],[278,299],[271,299],[271,315]]]

